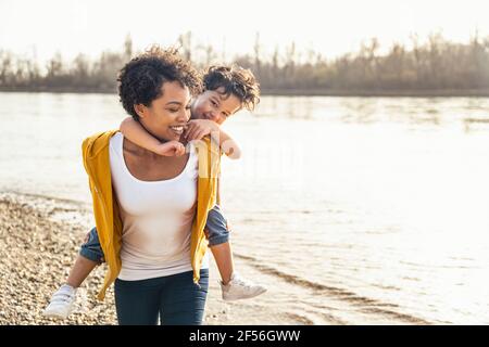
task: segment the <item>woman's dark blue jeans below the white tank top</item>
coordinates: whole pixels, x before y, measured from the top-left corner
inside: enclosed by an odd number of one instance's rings
[[[115,280],[115,309],[120,325],[200,325],[209,290],[209,269],[141,281]]]

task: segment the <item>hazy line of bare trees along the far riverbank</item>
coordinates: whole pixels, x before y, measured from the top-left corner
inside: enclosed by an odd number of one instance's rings
[[[177,46],[200,68],[224,61],[214,47],[193,44],[191,33],[181,35]],[[465,43],[451,42],[440,34],[421,42],[413,35],[409,48],[393,43],[383,53],[373,38],[356,52],[334,59],[313,50],[299,52],[293,42],[268,55],[263,48],[256,34],[251,53],[233,62],[250,68],[264,93],[489,94],[489,37],[477,34]],[[33,59],[0,50],[0,90],[115,92],[117,72],[135,53],[127,36],[118,52],[104,51],[97,60],[80,53],[71,62],[57,53],[41,69]]]

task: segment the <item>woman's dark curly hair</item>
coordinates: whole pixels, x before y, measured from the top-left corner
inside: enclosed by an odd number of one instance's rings
[[[139,120],[134,105],[150,106],[162,95],[161,87],[167,81],[178,81],[188,87],[192,95],[202,92],[201,75],[174,48],[150,47],[131,59],[117,77],[118,95],[124,110]]]

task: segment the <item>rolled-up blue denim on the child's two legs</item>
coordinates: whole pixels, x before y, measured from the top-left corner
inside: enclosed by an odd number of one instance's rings
[[[215,205],[208,214],[208,222],[205,224],[208,230],[209,246],[215,246],[229,241],[229,229],[227,228],[227,220],[223,216],[220,206]],[[100,246],[99,235],[97,229],[90,230],[88,241],[82,245],[79,254],[87,259],[96,262],[103,262],[103,252]]]

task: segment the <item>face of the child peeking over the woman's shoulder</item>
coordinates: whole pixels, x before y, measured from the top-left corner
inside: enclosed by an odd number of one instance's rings
[[[210,119],[218,125],[241,108],[241,102],[235,94],[225,95],[224,88],[206,90],[197,97],[192,104],[192,118]]]

